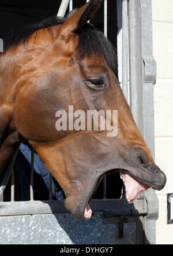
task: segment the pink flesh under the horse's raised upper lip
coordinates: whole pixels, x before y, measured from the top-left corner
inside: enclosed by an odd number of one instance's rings
[[[121,175],[126,187],[126,199],[129,203],[136,199],[140,192],[149,188],[148,185],[137,181],[136,178],[131,177],[124,171],[121,172]]]

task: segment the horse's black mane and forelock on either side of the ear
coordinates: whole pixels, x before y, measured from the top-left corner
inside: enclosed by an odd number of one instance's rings
[[[5,38],[5,51],[9,47],[17,47],[19,43],[27,44],[28,38],[33,32],[47,28],[50,35],[52,35],[51,27],[62,24],[66,19],[58,18],[56,16],[49,17],[22,27],[17,30],[13,30]],[[116,49],[110,41],[103,35],[103,33],[97,30],[91,23],[84,25],[82,30],[77,32],[78,34],[78,57],[82,60],[84,57],[100,57],[103,56],[107,65],[112,69],[114,74],[118,75]]]

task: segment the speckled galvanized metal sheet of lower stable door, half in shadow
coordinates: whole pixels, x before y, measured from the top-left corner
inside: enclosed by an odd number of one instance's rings
[[[135,244],[136,222],[103,224],[102,213],[91,220],[72,214],[39,214],[0,217],[0,244]]]

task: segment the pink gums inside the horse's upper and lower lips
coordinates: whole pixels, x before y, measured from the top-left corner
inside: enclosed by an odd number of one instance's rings
[[[123,169],[119,169],[119,171],[120,171],[120,177],[123,180],[123,183],[125,184],[126,200],[128,203],[133,203],[133,200],[135,200],[142,191],[146,191],[146,189],[151,187],[141,181],[138,181],[136,178],[132,177],[129,173],[127,173],[127,171]],[[99,185],[99,182],[97,182],[97,185]],[[97,188],[97,185],[96,185],[96,188]],[[94,192],[96,191],[96,188]],[[94,192],[92,193],[92,196]],[[84,218],[86,218],[87,220],[92,216],[92,210],[89,207],[89,201],[92,199],[92,196],[86,203],[85,210],[84,210]]]

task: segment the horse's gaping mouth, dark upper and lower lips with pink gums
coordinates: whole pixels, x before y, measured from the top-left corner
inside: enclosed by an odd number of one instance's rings
[[[98,175],[97,179],[91,179],[89,189],[88,186],[82,189],[80,196],[78,196],[77,193],[73,195],[73,197],[69,196],[66,198],[66,209],[73,213],[76,218],[91,218],[92,210],[89,207],[89,202],[93,198],[97,186],[105,175],[115,172],[120,173],[122,181],[125,184],[126,200],[128,203],[132,203],[133,200],[137,199],[142,191],[146,191],[146,189],[149,188],[161,190],[166,184],[166,175],[159,167],[154,166],[153,163],[148,164],[148,168],[141,166],[140,168],[129,167],[128,169],[111,169],[103,172],[100,176]]]

